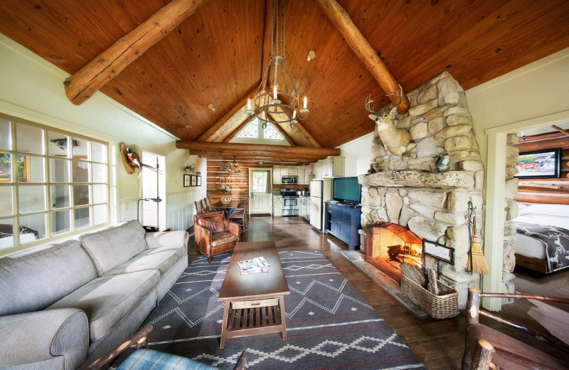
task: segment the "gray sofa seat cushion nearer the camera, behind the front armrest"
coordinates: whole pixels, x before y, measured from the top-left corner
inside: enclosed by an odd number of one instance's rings
[[[78,308],[87,314],[91,342],[104,337],[142,298],[156,295],[158,270],[97,277],[48,307]]]

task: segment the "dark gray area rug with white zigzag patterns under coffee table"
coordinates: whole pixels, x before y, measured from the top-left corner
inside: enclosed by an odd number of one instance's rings
[[[280,334],[241,337],[219,349],[223,302],[217,297],[230,255],[218,255],[212,263],[199,255],[144,322],[154,325],[150,348],[219,369],[233,369],[245,349],[247,369],[426,369],[324,255],[310,250],[279,255],[290,290],[287,340]]]

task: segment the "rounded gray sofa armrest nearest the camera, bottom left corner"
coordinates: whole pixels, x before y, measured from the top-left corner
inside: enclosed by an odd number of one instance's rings
[[[0,317],[0,368],[63,356],[65,369],[87,358],[89,324],[81,310],[64,308]]]

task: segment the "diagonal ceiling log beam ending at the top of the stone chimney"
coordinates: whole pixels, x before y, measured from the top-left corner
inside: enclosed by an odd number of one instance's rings
[[[363,65],[370,71],[371,75],[376,78],[381,86],[381,89],[388,94],[400,93],[399,84],[393,78],[387,67],[381,61],[376,51],[370,46],[365,37],[361,34],[360,30],[353,24],[350,16],[346,11],[336,2],[336,0],[317,0],[320,7],[330,18],[334,26],[338,28],[341,35],[344,36],[346,43],[350,46],[351,50],[356,53],[360,58]],[[398,104],[398,97],[388,95],[394,105]],[[398,106],[397,110],[401,114],[409,109],[409,100],[407,95],[403,93],[403,100]]]

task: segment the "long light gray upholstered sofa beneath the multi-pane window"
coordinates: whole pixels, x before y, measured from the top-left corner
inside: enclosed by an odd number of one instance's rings
[[[86,369],[188,267],[188,233],[138,221],[0,258],[0,368]]]

